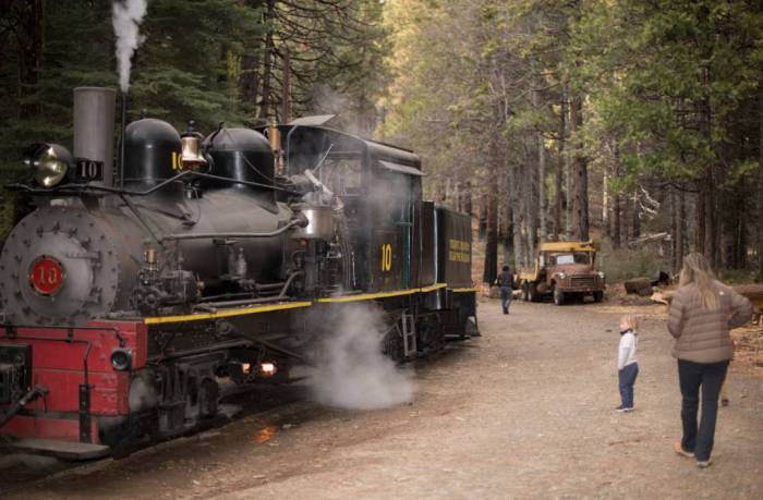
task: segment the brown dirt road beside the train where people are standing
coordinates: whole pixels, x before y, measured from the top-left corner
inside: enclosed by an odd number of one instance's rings
[[[417,364],[410,405],[290,403],[9,498],[763,498],[762,369],[731,370],[715,463],[698,469],[671,451],[680,400],[657,306],[635,309],[637,410],[613,411],[621,312],[485,303],[484,337]]]

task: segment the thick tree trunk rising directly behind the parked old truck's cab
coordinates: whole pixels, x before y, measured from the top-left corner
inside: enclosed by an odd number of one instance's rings
[[[589,169],[588,160],[583,154],[582,127],[583,127],[583,100],[574,96],[570,103],[570,122],[574,138],[573,191],[572,198],[572,231],[574,237],[581,241],[589,240]]]

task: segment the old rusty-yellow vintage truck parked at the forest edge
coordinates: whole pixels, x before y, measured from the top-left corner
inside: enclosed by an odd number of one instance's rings
[[[552,295],[562,305],[576,297],[592,296],[602,302],[606,282],[604,272],[594,269],[596,246],[593,242],[541,243],[535,256],[535,268],[519,273],[522,298],[537,302]]]

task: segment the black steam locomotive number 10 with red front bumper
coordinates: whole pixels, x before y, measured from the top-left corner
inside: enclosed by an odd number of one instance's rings
[[[32,147],[0,255],[0,438],[92,459],[218,418],[220,380],[289,381],[338,309],[405,361],[479,334],[470,218],[412,151],[316,119],[204,137],[74,89],[73,155]],[[114,156],[119,161],[114,161]],[[114,163],[117,163],[114,166]]]

